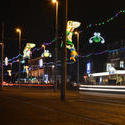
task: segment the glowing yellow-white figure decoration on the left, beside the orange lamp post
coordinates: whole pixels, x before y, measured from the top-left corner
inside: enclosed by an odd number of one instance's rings
[[[23,51],[23,58],[29,58],[31,55],[31,49],[34,48],[36,45],[34,43],[27,43],[24,51]]]

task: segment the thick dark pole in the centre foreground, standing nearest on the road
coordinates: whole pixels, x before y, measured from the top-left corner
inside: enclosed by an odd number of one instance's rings
[[[62,101],[65,101],[66,83],[67,83],[67,49],[66,49],[66,41],[67,41],[67,33],[66,33],[67,17],[68,17],[68,0],[65,0],[63,80],[62,80],[62,83],[61,83],[61,100]]]

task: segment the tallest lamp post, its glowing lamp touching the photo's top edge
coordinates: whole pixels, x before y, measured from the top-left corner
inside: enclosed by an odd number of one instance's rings
[[[52,0],[54,4],[56,4],[56,25],[55,25],[55,37],[56,37],[56,43],[55,43],[55,86],[54,90],[57,89],[57,53],[58,53],[58,1]]]

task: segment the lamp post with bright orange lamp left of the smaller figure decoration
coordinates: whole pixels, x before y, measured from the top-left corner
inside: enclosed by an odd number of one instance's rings
[[[19,28],[16,29],[16,32],[19,33],[19,70],[18,70],[18,78],[20,80],[20,73],[21,73],[21,60],[20,60],[20,53],[21,53],[21,30]],[[20,87],[20,84],[19,84]]]

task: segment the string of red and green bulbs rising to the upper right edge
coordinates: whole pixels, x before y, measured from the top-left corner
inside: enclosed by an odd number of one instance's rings
[[[125,14],[125,10],[120,10],[117,13],[115,13],[112,17],[104,19],[102,22],[98,22],[96,24],[89,24],[86,28],[92,28],[92,27],[97,27],[97,26],[102,26],[104,24],[108,24],[112,22],[115,18],[117,18],[119,15]]]

